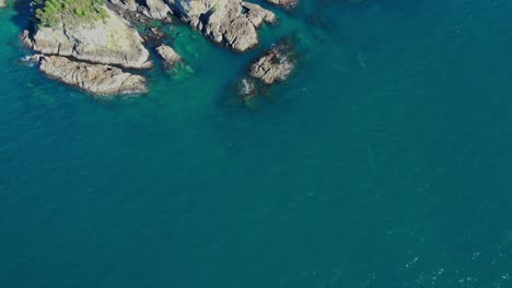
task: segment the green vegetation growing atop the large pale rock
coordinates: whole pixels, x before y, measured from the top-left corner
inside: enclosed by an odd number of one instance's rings
[[[35,0],[35,16],[37,24],[45,27],[56,26],[62,20],[105,20],[103,5],[103,0]]]

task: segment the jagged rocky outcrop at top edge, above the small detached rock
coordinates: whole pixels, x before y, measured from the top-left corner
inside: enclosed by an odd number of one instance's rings
[[[276,15],[242,0],[170,0],[174,13],[216,43],[245,51],[258,44],[256,28]]]

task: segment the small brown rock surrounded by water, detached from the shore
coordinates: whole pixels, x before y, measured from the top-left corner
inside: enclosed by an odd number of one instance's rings
[[[271,85],[277,81],[287,80],[295,69],[290,47],[280,44],[256,60],[249,68],[249,74]]]

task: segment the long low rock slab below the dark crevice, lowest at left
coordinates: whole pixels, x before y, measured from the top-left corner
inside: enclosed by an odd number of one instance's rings
[[[48,76],[96,95],[147,93],[146,80],[104,64],[74,62],[65,57],[47,56],[39,69]]]

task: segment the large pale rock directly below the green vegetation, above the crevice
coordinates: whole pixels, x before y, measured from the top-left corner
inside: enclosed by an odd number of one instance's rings
[[[108,16],[104,21],[60,23],[57,27],[38,28],[33,39],[25,35],[23,40],[45,55],[72,56],[124,68],[151,67],[140,35],[112,10],[105,10]]]

